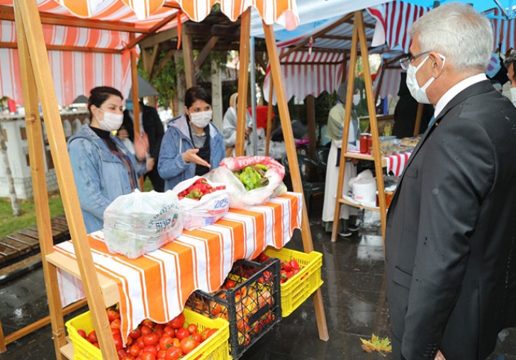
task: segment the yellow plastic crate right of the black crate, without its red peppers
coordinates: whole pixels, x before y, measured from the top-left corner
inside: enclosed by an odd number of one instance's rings
[[[320,252],[296,252],[291,249],[274,249],[267,247],[264,253],[269,257],[276,257],[283,261],[296,259],[303,269],[298,274],[281,284],[281,315],[291,315],[306,299],[324,283],[320,279],[322,267],[322,254]]]

